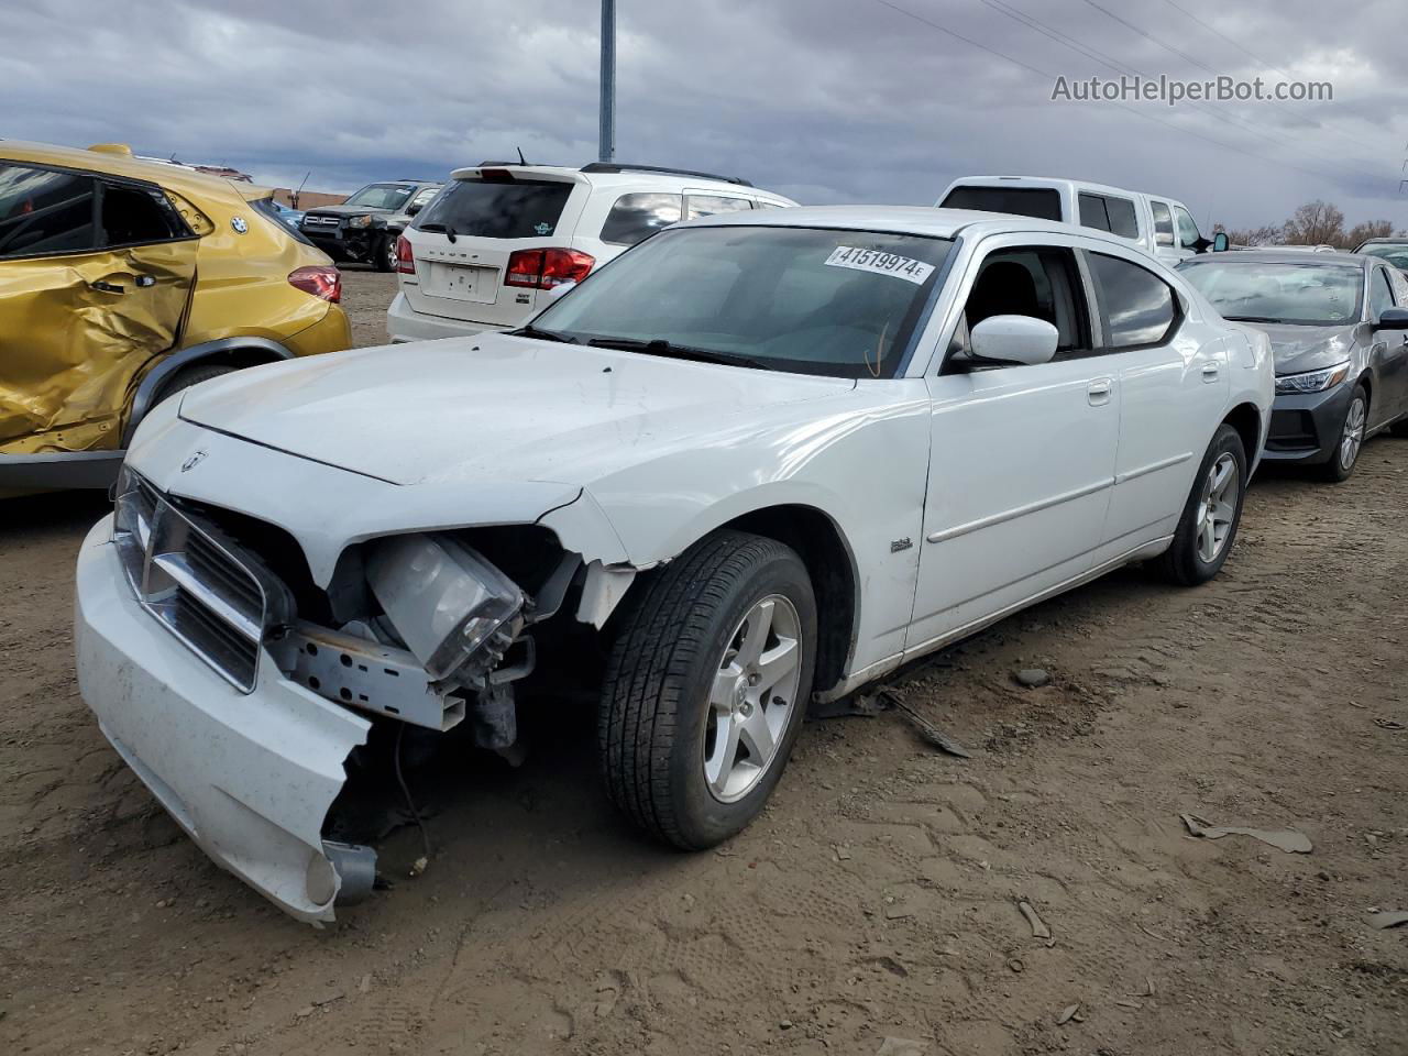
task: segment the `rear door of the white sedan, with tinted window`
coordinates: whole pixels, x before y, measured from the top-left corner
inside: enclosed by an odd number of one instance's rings
[[[1117,246],[1086,260],[1121,394],[1115,487],[1095,559],[1104,563],[1173,532],[1231,382],[1221,332],[1188,320],[1183,297],[1149,262]]]

